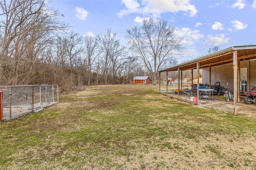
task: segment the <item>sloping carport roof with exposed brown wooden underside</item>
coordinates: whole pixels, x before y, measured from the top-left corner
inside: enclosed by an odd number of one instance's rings
[[[222,65],[233,62],[233,52],[237,51],[237,57],[240,60],[246,59],[256,59],[256,45],[244,45],[244,46],[233,46],[227,49],[223,49],[216,53],[206,55],[197,59],[193,59],[186,63],[175,65],[166,69],[162,69],[158,72],[164,71],[178,71],[180,68],[181,71],[196,69],[196,64],[199,63],[200,68],[205,68],[209,66]]]

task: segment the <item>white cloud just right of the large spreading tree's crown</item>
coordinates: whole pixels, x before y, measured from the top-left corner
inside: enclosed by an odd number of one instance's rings
[[[180,30],[176,29],[175,35],[178,37],[183,37],[183,44],[193,45],[195,40],[203,38],[203,34],[199,33],[199,30],[190,30],[190,28],[181,28]]]

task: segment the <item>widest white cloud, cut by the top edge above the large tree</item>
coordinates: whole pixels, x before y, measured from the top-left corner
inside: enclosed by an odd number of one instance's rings
[[[142,0],[140,5],[137,0],[122,0],[126,9],[120,10],[118,17],[123,17],[132,13],[150,14],[156,18],[164,12],[177,13],[180,11],[189,13],[190,16],[197,14],[196,7],[190,4],[190,0]]]

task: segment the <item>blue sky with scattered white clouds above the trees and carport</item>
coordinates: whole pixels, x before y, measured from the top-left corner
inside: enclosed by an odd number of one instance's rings
[[[60,20],[81,35],[111,28],[120,42],[143,18],[164,19],[183,37],[184,57],[192,60],[218,45],[226,49],[256,44],[256,0],[51,0]]]

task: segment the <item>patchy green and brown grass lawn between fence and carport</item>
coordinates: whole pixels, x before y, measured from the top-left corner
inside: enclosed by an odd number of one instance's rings
[[[255,120],[157,91],[90,86],[2,121],[0,169],[256,169]]]

